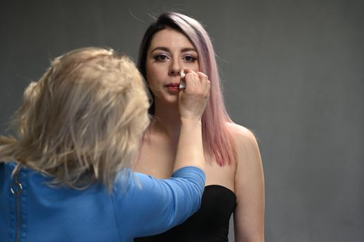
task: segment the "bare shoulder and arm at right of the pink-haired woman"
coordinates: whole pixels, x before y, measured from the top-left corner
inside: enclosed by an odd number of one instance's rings
[[[238,155],[234,180],[235,241],[264,241],[264,174],[257,139],[239,124],[227,125]]]

